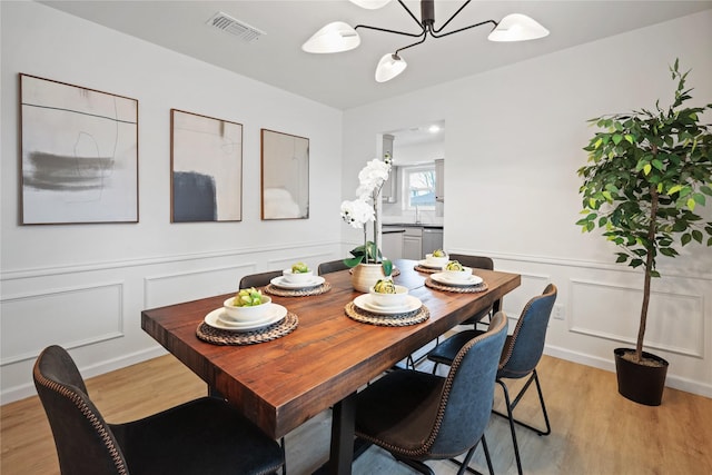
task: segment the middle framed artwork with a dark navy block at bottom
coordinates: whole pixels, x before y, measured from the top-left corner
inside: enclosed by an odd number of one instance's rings
[[[243,219],[243,125],[170,110],[171,222]]]

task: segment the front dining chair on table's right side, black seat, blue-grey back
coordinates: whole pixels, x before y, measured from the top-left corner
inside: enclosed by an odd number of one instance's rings
[[[484,432],[506,334],[506,315],[497,313],[486,333],[461,348],[447,377],[398,369],[372,383],[356,395],[356,436],[429,475],[425,461],[465,453],[458,474],[473,471],[468,464],[482,442],[493,474]]]

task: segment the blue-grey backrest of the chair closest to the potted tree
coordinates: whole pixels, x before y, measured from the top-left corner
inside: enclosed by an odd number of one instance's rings
[[[544,353],[546,328],[556,293],[556,286],[550,284],[542,295],[526,303],[502,352],[498,378],[521,378],[536,368]]]

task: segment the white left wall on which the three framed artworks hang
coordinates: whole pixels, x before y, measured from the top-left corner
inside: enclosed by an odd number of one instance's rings
[[[46,345],[103,373],[162,353],[140,328],[145,308],[340,257],[342,111],[39,3],[0,9],[2,403],[33,393]],[[18,225],[20,72],[138,99],[138,224]],[[243,123],[241,222],[170,224],[171,108]],[[260,128],[309,138],[309,219],[260,220]]]

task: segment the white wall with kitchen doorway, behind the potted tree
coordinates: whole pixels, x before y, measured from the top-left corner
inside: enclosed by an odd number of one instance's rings
[[[712,102],[710,44],[708,10],[348,110],[344,189],[379,131],[444,119],[446,249],[490,255],[496,268],[523,275],[504,300],[511,317],[555,283],[564,319],[552,320],[546,352],[612,370],[613,348],[636,335],[642,274],[613,264],[615,249],[575,226],[586,120],[657,98],[669,105],[676,83],[668,67],[678,57],[692,69],[695,103]],[[710,219],[712,205],[702,212]],[[671,363],[670,386],[712,396],[712,250],[681,254],[660,260],[646,349]]]

